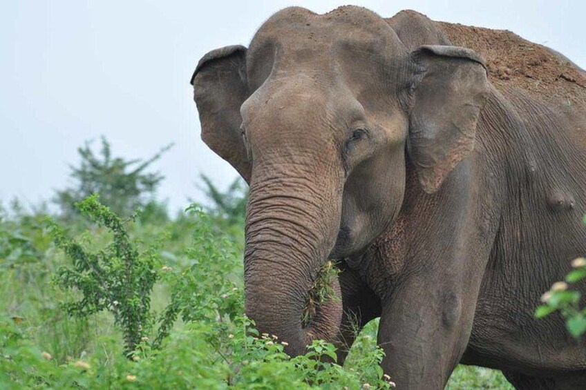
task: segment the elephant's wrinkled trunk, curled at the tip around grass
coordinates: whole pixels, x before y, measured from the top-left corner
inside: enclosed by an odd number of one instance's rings
[[[342,316],[335,277],[331,287],[338,297],[319,304],[307,324],[302,321],[339,228],[339,210],[332,210],[337,202],[310,188],[317,186],[299,178],[253,179],[247,208],[246,313],[258,331],[285,342],[290,355],[304,353],[316,338],[334,341]]]

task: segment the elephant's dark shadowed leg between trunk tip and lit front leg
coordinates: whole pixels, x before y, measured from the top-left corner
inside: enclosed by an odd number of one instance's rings
[[[339,275],[343,314],[337,341],[338,363],[343,364],[364,325],[381,315],[380,300],[359,275],[347,266]]]

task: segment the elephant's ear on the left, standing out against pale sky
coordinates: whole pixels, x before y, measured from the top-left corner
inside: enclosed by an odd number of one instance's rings
[[[226,46],[200,59],[193,77],[203,142],[250,182],[251,164],[240,135],[240,106],[249,97],[246,48]]]

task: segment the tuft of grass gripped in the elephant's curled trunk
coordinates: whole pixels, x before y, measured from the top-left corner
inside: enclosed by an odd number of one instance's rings
[[[332,289],[332,278],[338,277],[339,272],[340,270],[336,266],[335,260],[328,260],[321,264],[319,271],[317,271],[317,277],[310,288],[308,299],[301,312],[301,325],[304,328],[308,326],[311,319],[315,316],[320,304],[328,300],[339,299],[334,289]]]

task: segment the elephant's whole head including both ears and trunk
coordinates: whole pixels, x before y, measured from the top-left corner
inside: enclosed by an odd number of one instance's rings
[[[301,353],[332,338],[339,304],[301,312],[320,264],[364,251],[399,213],[406,162],[437,190],[471,153],[488,84],[471,50],[408,52],[376,14],[274,14],[192,79],[202,139],[249,183],[246,313]]]

